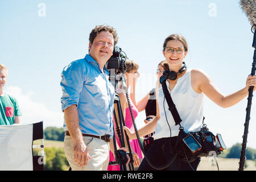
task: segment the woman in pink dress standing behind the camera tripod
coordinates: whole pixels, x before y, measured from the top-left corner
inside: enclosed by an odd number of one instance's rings
[[[138,68],[139,65],[133,61],[133,60],[126,60],[126,78],[127,78],[127,89],[130,89],[130,95],[135,94],[135,85],[137,82],[137,78],[139,77],[139,73],[138,73]],[[133,121],[131,119],[131,113],[130,113],[130,109],[129,109],[129,105],[127,103],[126,100],[126,94],[125,92],[117,92],[119,95],[119,100],[121,103],[121,107],[122,107],[122,112],[123,112],[123,117],[125,118],[125,125],[126,127],[129,127],[129,129],[131,131],[134,131],[134,127],[133,127]],[[138,109],[137,107],[135,107],[135,105],[133,104],[133,99],[130,98],[130,104],[131,104],[131,110],[133,112],[134,115],[134,119],[137,117],[138,115]],[[114,122],[115,123],[115,122]],[[117,135],[115,135],[117,136]],[[116,137],[117,139],[117,143],[118,146],[120,147],[120,143],[119,143],[119,139]],[[130,146],[131,146],[131,151],[133,153],[133,159],[134,159],[134,167],[138,167],[139,164],[141,163],[140,159],[143,159],[142,156],[142,152],[141,152],[141,148],[139,147],[139,143],[137,139],[133,139],[133,140],[129,140],[130,141]],[[110,151],[109,152],[109,161],[115,161],[114,155],[113,153]],[[109,166],[108,167],[109,171],[119,171],[119,165],[113,165],[113,166]]]

